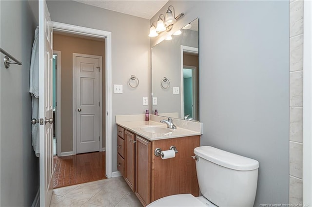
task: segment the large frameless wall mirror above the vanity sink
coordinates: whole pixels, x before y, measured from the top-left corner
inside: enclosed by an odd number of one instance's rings
[[[199,121],[198,18],[152,48],[152,112]]]

